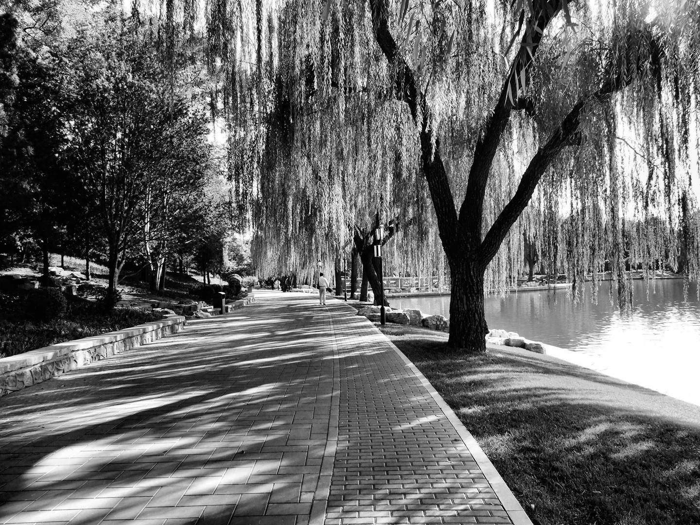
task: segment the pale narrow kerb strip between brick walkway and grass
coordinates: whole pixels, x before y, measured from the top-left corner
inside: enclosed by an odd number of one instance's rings
[[[349,304],[347,306],[355,310]],[[474,457],[474,461],[476,461],[477,465],[479,465],[479,469],[481,469],[482,472],[484,472],[484,477],[486,477],[486,481],[489,482],[489,485],[491,485],[491,488],[496,493],[496,496],[498,496],[498,500],[500,501],[501,505],[503,505],[503,510],[507,512],[508,517],[510,517],[510,520],[513,522],[513,525],[533,525],[533,522],[531,521],[530,517],[528,517],[524,508],[522,507],[522,505],[520,505],[520,502],[510,490],[510,487],[507,486],[507,484],[503,480],[503,477],[501,477],[501,475],[498,473],[496,467],[493,466],[493,463],[491,463],[489,457],[486,456],[486,453],[484,452],[482,447],[479,446],[479,443],[477,442],[477,440],[475,440],[474,436],[472,436],[472,433],[470,433],[470,431],[467,430],[467,428],[464,426],[464,423],[462,423],[461,419],[459,419],[457,414],[454,413],[454,410],[452,410],[451,407],[447,404],[447,402],[442,398],[442,395],[440,395],[440,393],[438,393],[437,390],[435,390],[435,387],[432,384],[430,384],[430,381],[428,381],[428,379],[423,375],[423,373],[420,370],[418,370],[416,365],[414,365],[412,361],[405,356],[405,353],[400,351],[398,346],[393,344],[393,342],[391,342],[391,339],[386,337],[386,335],[384,335],[384,333],[382,333],[381,330],[379,330],[377,325],[372,323],[372,321],[370,321],[367,318],[365,318],[365,320],[367,321],[367,324],[372,327],[372,329],[376,330],[379,333],[379,335],[381,335],[381,337],[384,337],[384,339],[386,339],[386,342],[389,344],[389,346],[391,346],[393,351],[398,353],[398,356],[403,360],[407,368],[409,368],[409,370],[411,370],[415,374],[419,381],[421,381],[421,384],[426,388],[428,393],[430,393],[432,398],[437,403],[437,406],[439,406],[444,415],[447,416],[447,419],[457,431],[459,437],[462,438],[464,444],[468,447],[470,453]]]

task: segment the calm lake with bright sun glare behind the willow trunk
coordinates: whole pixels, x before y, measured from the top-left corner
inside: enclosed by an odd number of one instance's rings
[[[577,303],[561,289],[486,297],[486,321],[489,328],[570,350],[547,349],[557,357],[700,405],[700,302],[694,283],[684,300],[681,279],[650,281],[648,297],[644,281],[633,281],[629,313],[620,313],[609,288],[609,281],[598,286],[596,304],[591,283]],[[449,316],[449,295],[389,300],[395,308]]]

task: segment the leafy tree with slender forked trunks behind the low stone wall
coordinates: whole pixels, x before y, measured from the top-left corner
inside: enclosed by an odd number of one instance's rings
[[[108,10],[69,49],[66,158],[83,198],[98,204],[109,286],[116,288],[127,258],[141,246],[151,286],[161,288],[168,239],[187,229],[206,202],[205,121],[190,104],[186,79],[170,74],[158,45],[136,22]]]

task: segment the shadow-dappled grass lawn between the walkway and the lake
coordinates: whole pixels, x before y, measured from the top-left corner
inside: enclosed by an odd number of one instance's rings
[[[535,524],[700,524],[700,407],[521,349],[464,356],[444,333],[382,331]]]

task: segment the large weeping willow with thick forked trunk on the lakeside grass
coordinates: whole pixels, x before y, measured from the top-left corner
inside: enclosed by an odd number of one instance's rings
[[[169,15],[183,33],[193,6]],[[258,261],[310,272],[375,214],[398,218],[400,260],[449,267],[449,344],[465,351],[484,350],[484,294],[519,272],[523,232],[575,293],[606,260],[623,302],[626,267],[697,279],[697,2],[209,0],[205,14]]]

